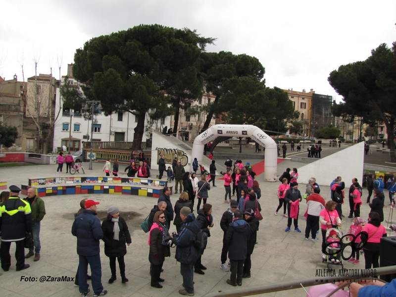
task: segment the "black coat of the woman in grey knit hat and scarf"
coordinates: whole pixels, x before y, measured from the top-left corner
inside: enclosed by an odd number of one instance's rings
[[[120,228],[120,232],[117,241],[114,240],[114,222],[106,219],[102,223],[104,254],[108,257],[119,257],[125,255],[127,253],[125,243],[132,243],[128,225],[122,217],[118,217],[118,226]]]

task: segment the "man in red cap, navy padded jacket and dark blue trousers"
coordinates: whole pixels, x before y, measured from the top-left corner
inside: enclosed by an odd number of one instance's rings
[[[79,255],[78,278],[81,296],[87,296],[90,292],[87,283],[88,264],[92,272],[92,289],[94,297],[103,296],[107,291],[103,290],[100,264],[99,240],[103,238],[103,232],[99,219],[96,217],[99,202],[87,200],[84,211],[74,220],[71,233],[77,237],[77,254]]]

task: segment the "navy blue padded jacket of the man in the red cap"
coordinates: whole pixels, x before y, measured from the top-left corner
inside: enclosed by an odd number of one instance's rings
[[[103,231],[96,214],[93,210],[84,209],[71,227],[71,234],[77,237],[77,254],[81,256],[100,253],[99,240],[103,238]]]

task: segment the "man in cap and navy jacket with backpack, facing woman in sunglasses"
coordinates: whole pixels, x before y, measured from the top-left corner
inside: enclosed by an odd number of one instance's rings
[[[172,238],[172,243],[176,245],[175,258],[180,262],[180,274],[183,276],[184,289],[179,290],[179,294],[194,296],[194,263],[201,254],[195,242],[200,225],[189,207],[182,207],[180,218],[183,221],[180,233]]]

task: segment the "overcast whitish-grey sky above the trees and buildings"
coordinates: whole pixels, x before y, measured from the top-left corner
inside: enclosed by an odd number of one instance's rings
[[[66,75],[76,49],[93,37],[139,24],[196,29],[216,38],[207,51],[257,57],[266,85],[336,96],[327,82],[340,65],[396,41],[396,1],[0,0],[0,75],[25,81]]]

